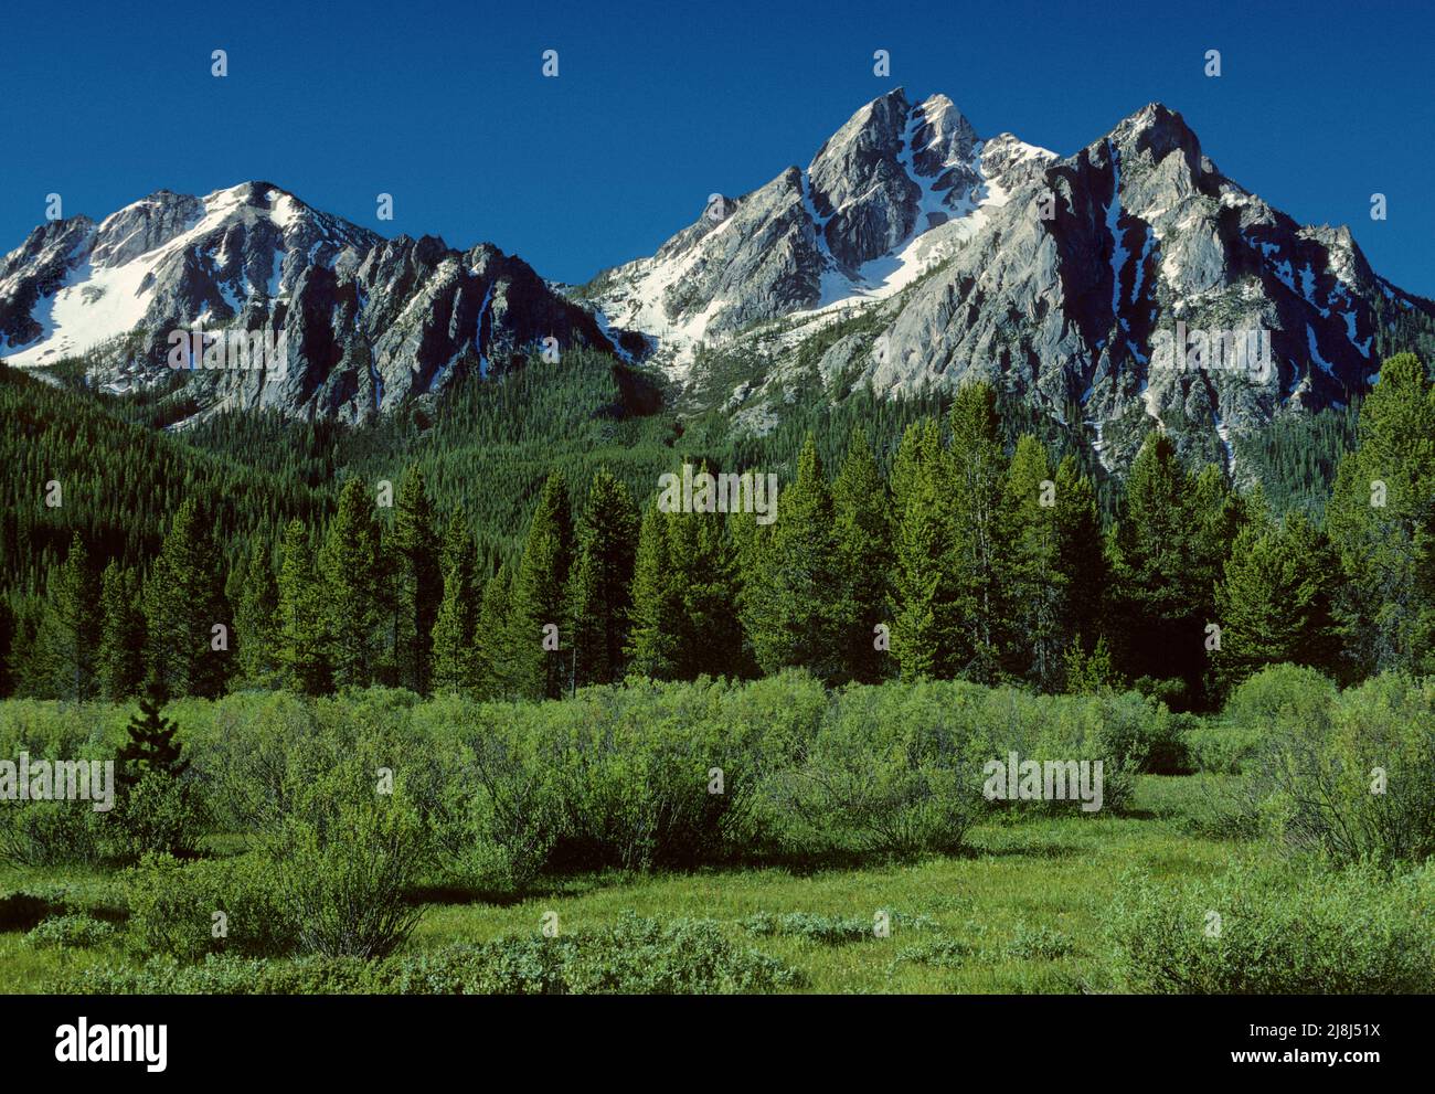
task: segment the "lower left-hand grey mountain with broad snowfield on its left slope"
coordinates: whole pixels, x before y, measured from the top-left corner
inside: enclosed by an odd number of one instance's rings
[[[268,182],[204,198],[159,191],[110,214],[36,228],[0,261],[0,353],[83,356],[112,392],[162,382],[169,332],[270,332],[261,370],[198,370],[207,409],[274,406],[363,421],[528,349],[614,352],[594,316],[521,258],[375,233]]]

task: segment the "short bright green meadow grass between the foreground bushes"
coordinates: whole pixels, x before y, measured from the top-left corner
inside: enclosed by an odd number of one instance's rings
[[[1213,777],[1144,775],[1124,817],[1073,814],[983,824],[971,853],[862,870],[702,870],[680,874],[607,871],[547,883],[509,904],[426,892],[405,952],[456,942],[535,935],[545,913],[560,933],[604,926],[624,912],[659,922],[712,919],[735,942],[801,972],[809,992],[1101,992],[1111,989],[1106,913],[1119,879],[1200,879],[1241,856],[1241,846],[1192,834],[1203,784]],[[100,946],[33,949],[23,933],[0,933],[0,992],[42,992],[79,965],[132,960],[125,948],[118,873],[0,869],[0,890],[65,884],[73,903],[116,932]],[[871,926],[891,916],[888,938]],[[759,913],[778,920],[755,933]],[[837,933],[837,940],[818,938]]]

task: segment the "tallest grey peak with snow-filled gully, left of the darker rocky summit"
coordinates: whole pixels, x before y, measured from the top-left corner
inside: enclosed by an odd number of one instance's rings
[[[604,270],[578,296],[656,336],[677,370],[700,342],[755,322],[890,297],[953,254],[1052,152],[979,141],[944,95],[898,89],[789,167],[703,215],[651,258]]]

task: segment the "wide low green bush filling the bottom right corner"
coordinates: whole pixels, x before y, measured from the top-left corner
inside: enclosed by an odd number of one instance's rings
[[[1215,919],[1218,916],[1218,919]],[[1346,995],[1435,991],[1435,867],[1238,867],[1172,884],[1129,876],[1109,923],[1132,992]]]

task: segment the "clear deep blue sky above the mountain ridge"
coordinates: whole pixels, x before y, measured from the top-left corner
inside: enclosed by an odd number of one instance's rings
[[[805,165],[893,86],[1071,154],[1158,99],[1231,178],[1346,223],[1435,296],[1435,6],[1395,3],[7,4],[0,253],[43,220],[253,178],[383,234],[580,281],[715,191]],[[230,75],[210,75],[228,50]],[[544,79],[540,55],[560,52]],[[891,52],[890,79],[872,52]],[[1203,75],[1207,49],[1223,75]],[[375,220],[375,195],[395,220]],[[1370,194],[1389,220],[1369,217]]]

